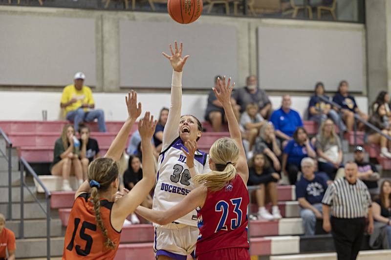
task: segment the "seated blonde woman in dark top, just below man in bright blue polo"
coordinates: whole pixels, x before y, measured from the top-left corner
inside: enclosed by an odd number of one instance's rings
[[[269,162],[272,163],[276,172],[281,172],[281,142],[274,134],[272,122],[262,125],[260,135],[255,140],[254,154],[264,154]]]

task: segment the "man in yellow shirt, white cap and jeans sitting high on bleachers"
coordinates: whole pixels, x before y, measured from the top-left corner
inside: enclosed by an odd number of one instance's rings
[[[97,119],[99,132],[106,132],[105,114],[102,109],[94,109],[92,91],[83,85],[85,79],[83,72],[75,74],[74,84],[66,86],[63,90],[60,106],[65,109],[66,119],[73,121],[76,131],[80,122],[92,122]]]

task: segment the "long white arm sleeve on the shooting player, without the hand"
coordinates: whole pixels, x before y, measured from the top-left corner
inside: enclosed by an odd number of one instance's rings
[[[178,136],[178,127],[180,120],[180,111],[182,107],[182,72],[173,70],[173,81],[171,84],[171,103],[168,112],[167,123],[163,131],[164,151]]]

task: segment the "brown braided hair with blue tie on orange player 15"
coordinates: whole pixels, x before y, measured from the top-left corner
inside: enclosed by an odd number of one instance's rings
[[[88,180],[90,181],[90,194],[94,206],[95,219],[105,237],[105,246],[110,249],[116,248],[116,243],[110,240],[107,229],[103,223],[101,215],[101,203],[99,191],[105,191],[110,184],[118,178],[118,165],[109,158],[99,158],[93,160],[88,167]],[[92,185],[91,185],[92,184]]]

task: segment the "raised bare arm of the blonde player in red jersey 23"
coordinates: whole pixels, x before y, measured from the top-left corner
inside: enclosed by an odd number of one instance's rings
[[[246,160],[246,153],[244,152],[244,147],[241,140],[239,123],[235,117],[234,110],[232,109],[231,105],[231,93],[232,89],[235,86],[235,82],[231,85],[231,78],[229,78],[228,82],[225,83],[224,76],[222,80],[217,79],[217,86],[217,88],[213,88],[213,92],[215,93],[217,100],[220,101],[223,105],[225,116],[227,117],[228,121],[228,129],[231,139],[233,139],[239,147],[239,160],[235,166],[244,183],[247,183],[248,166]]]

